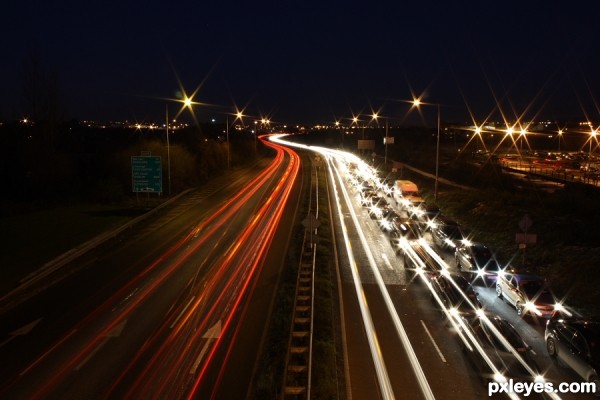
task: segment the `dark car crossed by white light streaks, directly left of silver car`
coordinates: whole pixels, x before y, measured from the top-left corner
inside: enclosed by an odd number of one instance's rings
[[[447,310],[453,308],[459,312],[472,313],[481,308],[479,296],[470,279],[460,272],[448,272],[441,270],[429,273],[432,297],[439,299]],[[439,303],[438,303],[439,304]]]

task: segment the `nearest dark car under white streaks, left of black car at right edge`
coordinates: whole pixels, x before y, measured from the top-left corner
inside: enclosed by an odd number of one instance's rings
[[[460,315],[457,332],[463,354],[485,382],[531,382],[539,375],[531,346],[505,319],[482,311]]]

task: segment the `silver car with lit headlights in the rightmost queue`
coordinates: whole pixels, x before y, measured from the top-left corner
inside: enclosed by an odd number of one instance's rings
[[[551,318],[556,312],[557,301],[546,280],[539,275],[500,271],[496,294],[512,304],[519,316],[534,314]]]

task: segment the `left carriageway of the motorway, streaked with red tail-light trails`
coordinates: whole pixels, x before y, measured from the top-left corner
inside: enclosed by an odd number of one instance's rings
[[[301,190],[298,155],[266,145],[261,170],[2,298],[0,397],[246,397]]]

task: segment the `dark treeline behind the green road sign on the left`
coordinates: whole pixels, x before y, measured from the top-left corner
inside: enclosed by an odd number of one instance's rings
[[[172,194],[227,168],[224,131],[225,126],[201,124],[170,132]],[[19,121],[0,125],[0,145],[3,202],[12,204],[13,210],[16,205],[122,201],[133,195],[131,157],[142,152],[162,157],[163,190],[168,190],[164,129]],[[249,131],[230,129],[229,145],[233,167],[257,156],[255,137]]]

